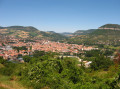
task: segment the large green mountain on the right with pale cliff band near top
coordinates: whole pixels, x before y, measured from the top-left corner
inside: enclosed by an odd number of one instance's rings
[[[81,35],[80,33],[79,35],[73,36],[68,40],[68,43],[87,45],[120,45],[119,27],[120,25],[116,24],[106,24],[86,35]]]

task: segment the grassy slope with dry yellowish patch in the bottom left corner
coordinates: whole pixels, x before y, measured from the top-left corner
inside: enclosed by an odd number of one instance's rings
[[[26,89],[14,75],[17,66],[0,57],[0,89]]]

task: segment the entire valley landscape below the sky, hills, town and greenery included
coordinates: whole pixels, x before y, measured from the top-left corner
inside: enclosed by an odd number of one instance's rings
[[[0,27],[0,88],[119,88],[120,31],[106,28],[62,34]]]

